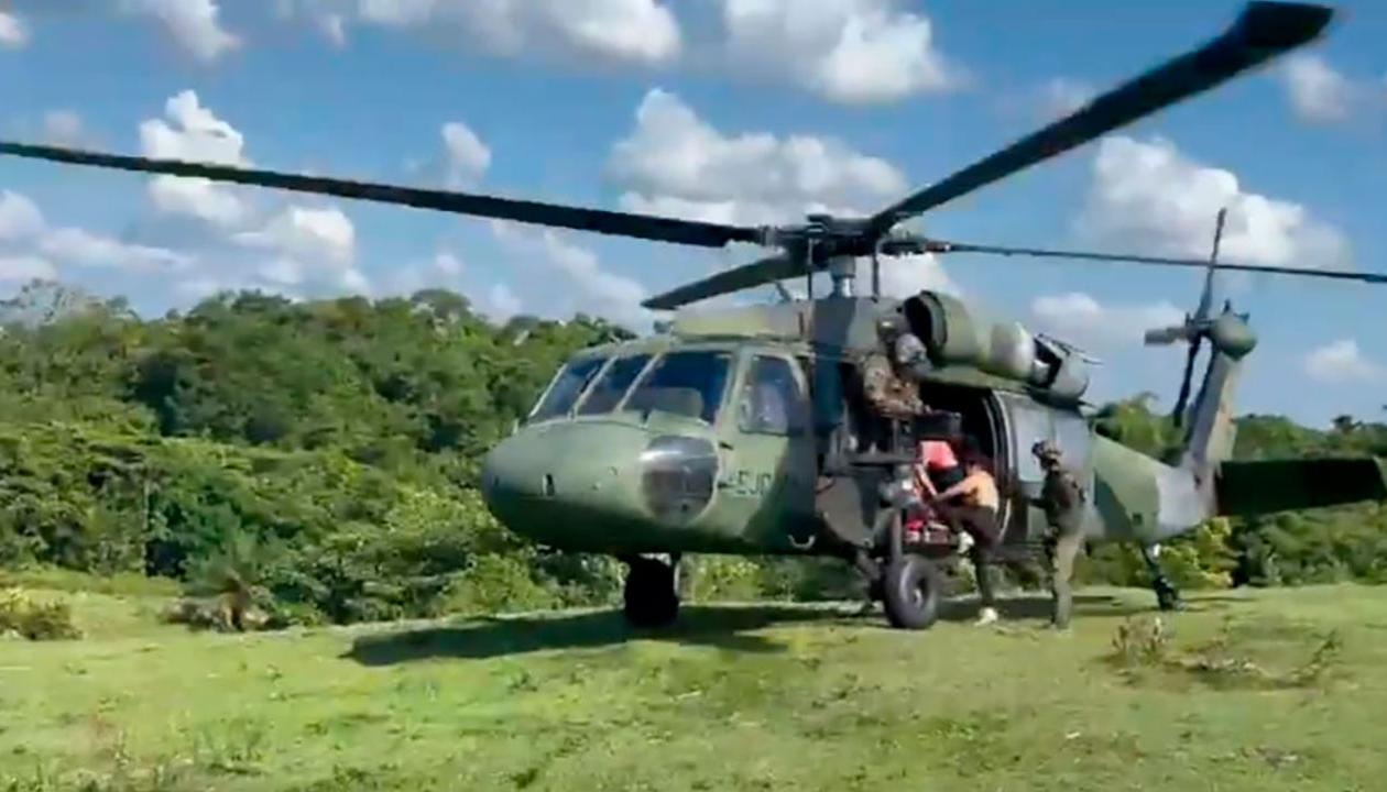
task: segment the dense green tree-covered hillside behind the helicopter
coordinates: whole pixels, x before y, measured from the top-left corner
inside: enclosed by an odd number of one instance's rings
[[[0,304],[0,570],[190,587],[234,569],[279,623],[612,602],[620,566],[544,553],[476,492],[481,454],[603,320],[488,323],[452,293],[290,302],[227,294],[140,319],[31,284]],[[1144,397],[1101,430],[1160,454]],[[1387,455],[1387,426],[1246,416],[1241,458]],[[1381,505],[1216,522],[1168,549],[1184,585],[1387,578]],[[842,595],[836,566],[699,559],[703,595]],[[1144,583],[1104,549],[1089,580]]]

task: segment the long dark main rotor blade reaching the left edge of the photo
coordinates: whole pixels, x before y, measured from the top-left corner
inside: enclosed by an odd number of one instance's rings
[[[114,168],[118,171],[136,171],[141,173],[166,173],[169,176],[212,179],[215,182],[275,187],[277,190],[312,193],[318,196],[338,196],[343,198],[359,198],[381,204],[397,204],[422,209],[474,215],[480,218],[516,221],[522,223],[700,247],[723,247],[731,241],[761,241],[761,232],[752,227],[724,226],[718,223],[703,223],[628,212],[612,212],[606,209],[588,209],[559,204],[541,204],[538,201],[474,196],[447,190],[422,190],[416,187],[397,187],[393,184],[376,184],[369,182],[348,182],[344,179],[329,179],[323,176],[302,176],[295,173],[279,173],[275,171],[233,168],[229,165],[182,162],[176,160],[150,160],[146,157],[126,157],[121,154],[100,154],[94,151],[60,148],[55,146],[31,146],[26,143],[0,141],[0,154],[10,154],[12,157],[25,157],[31,160],[50,160],[53,162],[69,162],[75,165],[92,165],[97,168]]]

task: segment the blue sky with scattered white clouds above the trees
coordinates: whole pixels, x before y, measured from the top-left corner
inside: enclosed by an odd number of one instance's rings
[[[121,153],[734,222],[870,212],[1219,32],[1239,3],[1094,0],[11,0],[0,135]],[[1387,6],[1300,57],[924,218],[999,244],[1387,272]],[[756,251],[698,251],[6,160],[0,290],[33,275],[144,312],[216,287],[465,293],[495,316],[635,304]],[[1103,358],[1094,398],[1155,391],[1187,270],[950,257],[888,265]],[[1241,277],[1261,347],[1241,411],[1311,424],[1387,404],[1387,289]],[[770,290],[764,290],[770,297]]]

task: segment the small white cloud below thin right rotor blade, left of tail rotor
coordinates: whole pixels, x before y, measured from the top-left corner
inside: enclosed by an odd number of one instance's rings
[[[1039,330],[1092,350],[1140,344],[1147,330],[1184,320],[1184,312],[1166,301],[1103,305],[1079,291],[1036,297],[1031,313]]]

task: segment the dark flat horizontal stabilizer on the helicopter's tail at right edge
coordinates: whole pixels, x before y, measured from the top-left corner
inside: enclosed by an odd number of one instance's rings
[[[1254,516],[1387,501],[1387,462],[1334,459],[1227,460],[1219,466],[1218,513]]]

